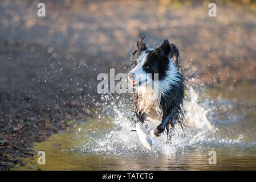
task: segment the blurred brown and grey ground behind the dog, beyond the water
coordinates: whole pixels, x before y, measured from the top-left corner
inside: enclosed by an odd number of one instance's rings
[[[2,167],[27,155],[30,142],[97,114],[97,75],[127,73],[142,35],[152,47],[176,44],[187,85],[215,88],[216,97],[240,86],[230,100],[255,104],[256,86],[247,89],[256,81],[255,1],[213,1],[217,17],[208,15],[212,1],[44,0],[46,17],[37,16],[39,2],[0,2]]]

